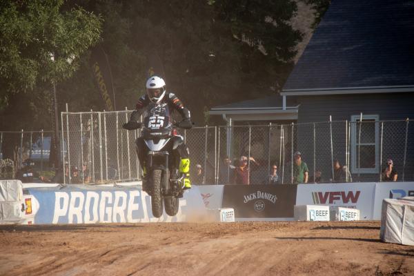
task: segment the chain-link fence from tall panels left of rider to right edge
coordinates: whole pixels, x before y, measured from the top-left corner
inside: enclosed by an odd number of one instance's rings
[[[62,113],[63,160],[70,168],[82,168],[82,183],[140,179],[135,148],[140,130],[121,127],[129,117],[128,110]],[[386,181],[389,173],[382,171],[388,159],[393,159],[397,181],[414,179],[414,127],[408,120],[364,117],[362,122],[205,126],[179,132],[190,149],[195,184],[233,184],[241,157],[247,159],[248,184],[268,184],[275,166],[279,183],[295,183],[297,151],[310,183]],[[66,183],[73,182],[67,178]]]

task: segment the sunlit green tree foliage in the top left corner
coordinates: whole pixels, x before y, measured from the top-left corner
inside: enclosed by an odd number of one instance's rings
[[[10,93],[32,90],[40,81],[68,79],[78,67],[77,58],[101,34],[99,17],[79,7],[61,12],[63,0],[0,5],[2,101]]]

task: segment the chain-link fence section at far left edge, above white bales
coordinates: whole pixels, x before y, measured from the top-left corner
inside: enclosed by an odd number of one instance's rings
[[[0,131],[1,178],[13,178],[23,161],[32,159],[41,174],[50,170],[52,131]],[[11,165],[12,164],[12,165]]]

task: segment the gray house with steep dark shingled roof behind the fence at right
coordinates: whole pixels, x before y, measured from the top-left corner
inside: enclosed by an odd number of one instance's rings
[[[414,118],[413,1],[332,1],[280,95],[297,102],[290,150],[311,170],[331,175],[339,159],[354,180],[379,181],[391,158],[400,180],[413,179],[414,126],[404,121]],[[249,107],[251,117],[266,117],[263,106]],[[311,123],[330,119],[340,122],[313,131]]]

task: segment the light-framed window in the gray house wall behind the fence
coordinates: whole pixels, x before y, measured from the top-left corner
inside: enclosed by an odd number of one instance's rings
[[[362,124],[359,124],[360,115],[351,116],[352,173],[380,172],[379,119],[379,115],[363,115]]]

